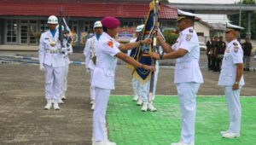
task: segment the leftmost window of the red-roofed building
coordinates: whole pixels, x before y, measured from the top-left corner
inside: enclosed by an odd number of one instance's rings
[[[6,41],[14,44],[17,42],[17,20],[7,20]]]

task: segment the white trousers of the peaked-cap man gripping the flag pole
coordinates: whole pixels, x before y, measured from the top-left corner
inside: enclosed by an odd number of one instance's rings
[[[196,93],[199,90],[198,83],[179,83],[176,84],[177,96],[179,97],[181,111],[181,138],[184,143],[195,142],[195,111]]]

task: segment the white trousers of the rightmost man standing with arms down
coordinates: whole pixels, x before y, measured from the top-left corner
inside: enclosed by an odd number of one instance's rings
[[[239,90],[232,90],[232,86],[225,86],[225,96],[229,107],[230,128],[229,131],[240,133],[241,129],[241,104]]]

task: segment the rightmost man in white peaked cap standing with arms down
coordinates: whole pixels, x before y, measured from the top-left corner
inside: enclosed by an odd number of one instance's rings
[[[227,131],[221,131],[220,133],[225,138],[235,138],[240,136],[240,92],[241,87],[244,85],[243,52],[236,38],[243,28],[230,23],[228,23],[226,27],[225,38],[228,45],[224,53],[218,85],[224,86],[224,93],[230,113],[230,126]]]

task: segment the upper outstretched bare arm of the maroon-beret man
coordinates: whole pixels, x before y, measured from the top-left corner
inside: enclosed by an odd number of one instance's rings
[[[129,44],[120,44],[119,49],[122,51],[128,50],[128,49],[134,49],[137,48],[140,44],[148,45],[151,44],[152,40],[150,38],[146,38],[145,40],[141,40],[135,43],[129,43]]]

